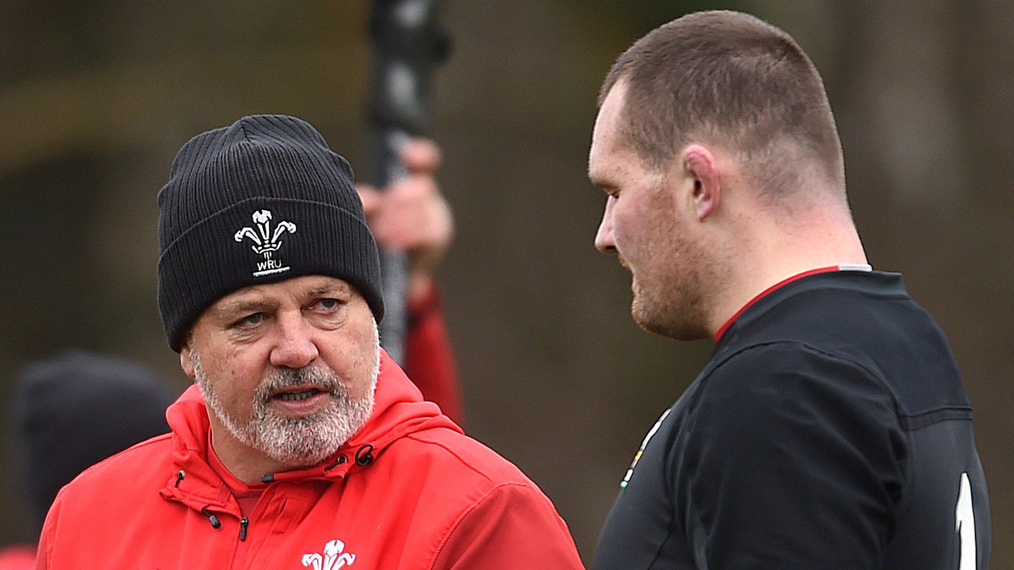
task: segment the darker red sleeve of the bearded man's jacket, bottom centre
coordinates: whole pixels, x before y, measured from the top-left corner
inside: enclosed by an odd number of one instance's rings
[[[538,489],[503,484],[463,513],[432,570],[583,570],[567,524]]]

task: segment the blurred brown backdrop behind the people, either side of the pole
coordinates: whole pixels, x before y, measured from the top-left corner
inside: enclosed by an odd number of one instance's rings
[[[155,194],[193,135],[296,115],[367,170],[368,2],[168,6],[0,1],[2,395],[27,360],[67,346],[187,385],[155,304]],[[822,73],[871,263],[904,273],[961,365],[993,568],[1014,569],[1009,1],[443,2],[455,48],[434,78],[431,134],[457,222],[439,277],[466,431],[541,486],[590,562],[631,457],[712,346],[638,329],[629,275],[592,247],[595,96],[636,39],[715,7],[785,28]],[[34,540],[10,476],[0,545]]]

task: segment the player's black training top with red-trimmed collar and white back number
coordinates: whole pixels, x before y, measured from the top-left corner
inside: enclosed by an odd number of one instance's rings
[[[621,487],[594,570],[989,566],[971,406],[897,274],[811,275],[749,306]]]

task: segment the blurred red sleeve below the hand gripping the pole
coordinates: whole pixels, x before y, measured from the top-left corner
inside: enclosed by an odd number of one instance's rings
[[[450,348],[447,326],[435,285],[409,300],[409,333],[405,343],[405,371],[423,398],[461,425],[461,386]]]

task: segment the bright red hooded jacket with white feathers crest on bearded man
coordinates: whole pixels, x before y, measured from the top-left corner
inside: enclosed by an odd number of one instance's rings
[[[247,523],[207,462],[196,386],[167,417],[171,434],[64,487],[37,568],[582,568],[546,495],[423,402],[386,354],[366,426],[320,465],[266,476]]]

